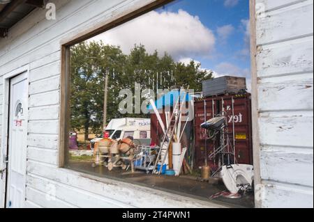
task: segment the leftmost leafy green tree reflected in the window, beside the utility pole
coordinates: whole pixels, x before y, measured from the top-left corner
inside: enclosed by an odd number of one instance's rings
[[[116,75],[110,75],[113,83],[124,63],[125,56],[119,47],[103,42],[82,42],[71,48],[70,124],[73,129],[84,129],[85,140],[90,128],[95,133],[101,132],[105,74],[115,70]],[[108,104],[115,103],[113,94],[114,87],[110,86]]]

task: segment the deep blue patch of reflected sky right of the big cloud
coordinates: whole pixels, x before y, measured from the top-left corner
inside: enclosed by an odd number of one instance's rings
[[[239,56],[241,50],[248,47],[245,42],[246,26],[244,26],[244,21],[249,18],[248,0],[229,1],[229,5],[225,2],[224,0],[178,0],[160,10],[170,12],[185,10],[190,15],[200,17],[202,24],[214,31],[217,39],[211,58],[195,57],[195,60],[202,63],[203,68],[214,69],[220,63],[231,63],[242,69],[249,68],[248,55]],[[233,27],[232,33],[225,40],[221,40],[218,35],[218,29],[223,26]]]

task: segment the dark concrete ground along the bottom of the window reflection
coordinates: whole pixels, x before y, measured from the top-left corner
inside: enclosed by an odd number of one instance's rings
[[[239,199],[220,197],[211,200],[209,198],[210,196],[227,190],[221,182],[219,184],[209,184],[209,182],[200,182],[196,177],[158,176],[147,174],[144,171],[130,173],[130,171],[122,171],[121,168],[114,168],[113,171],[108,171],[104,166],[96,166],[93,168],[91,166],[91,161],[70,161],[68,168],[75,171],[81,171],[82,173],[89,173],[100,177],[109,177],[114,180],[139,184],[144,187],[169,191],[171,193],[177,193],[179,195],[189,196],[200,200],[214,201],[229,207],[254,207],[253,193],[248,193]]]

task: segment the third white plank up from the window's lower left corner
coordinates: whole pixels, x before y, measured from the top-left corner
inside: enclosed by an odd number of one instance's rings
[[[27,132],[33,134],[58,134],[59,120],[29,121]]]

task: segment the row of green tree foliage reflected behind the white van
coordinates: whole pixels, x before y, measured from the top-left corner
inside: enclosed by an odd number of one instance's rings
[[[200,64],[178,63],[167,53],[163,56],[147,53],[143,45],[135,45],[129,55],[121,49],[103,42],[81,42],[71,48],[70,113],[71,128],[84,129],[85,140],[89,131],[101,132],[105,75],[109,75],[107,118],[126,117],[118,111],[122,89],[134,92],[135,83],[142,89],[190,86],[195,92],[202,90],[202,81],[211,79],[212,73],[200,70]],[[160,79],[160,74],[162,78]],[[127,117],[147,117],[132,115]]]

